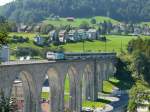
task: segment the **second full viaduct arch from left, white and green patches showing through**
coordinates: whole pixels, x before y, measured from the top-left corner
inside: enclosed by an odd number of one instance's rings
[[[60,103],[60,81],[57,70],[48,69],[41,89],[41,110],[42,112],[59,111]]]

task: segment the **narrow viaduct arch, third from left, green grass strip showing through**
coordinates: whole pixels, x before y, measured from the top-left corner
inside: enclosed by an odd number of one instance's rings
[[[64,78],[64,111],[76,111],[76,75],[77,70],[70,66]]]

